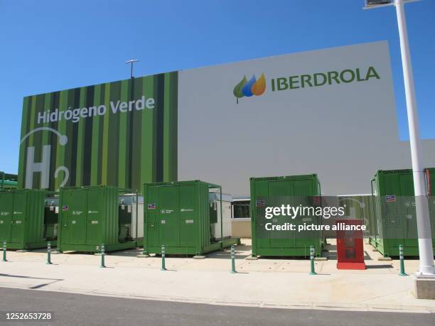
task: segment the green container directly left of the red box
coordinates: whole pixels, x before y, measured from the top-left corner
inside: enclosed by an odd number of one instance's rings
[[[268,239],[259,238],[257,226],[262,227],[264,217],[258,216],[258,202],[267,201],[276,197],[288,197],[289,202],[281,204],[311,205],[310,197],[320,196],[321,187],[316,174],[293,175],[286,177],[250,178],[251,182],[251,217],[252,217],[252,256],[310,256],[310,246],[316,249],[316,256],[321,256],[322,234],[311,239]],[[306,197],[306,201],[301,202]],[[297,199],[296,199],[297,198]],[[313,217],[314,218],[314,217]],[[277,217],[278,222],[289,222],[289,217]],[[282,219],[282,221],[281,221]],[[320,223],[321,217],[313,223]],[[268,220],[269,221],[269,220]],[[293,223],[301,223],[302,219],[294,219]],[[296,231],[295,231],[296,232]],[[270,234],[270,233],[268,233]]]

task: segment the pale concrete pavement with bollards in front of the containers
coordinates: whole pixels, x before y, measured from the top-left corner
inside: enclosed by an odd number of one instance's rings
[[[90,254],[53,254],[53,265],[46,265],[43,250],[8,251],[9,261],[0,262],[0,286],[214,305],[435,313],[435,300],[410,293],[413,277],[398,276],[399,261],[377,261],[380,254],[365,244],[365,271],[337,270],[334,247],[329,245],[328,261],[316,261],[316,276],[308,274],[304,259],[246,260],[248,239],[237,246],[236,274],[230,273],[230,251],[204,260],[168,257],[168,271],[160,270],[159,257],[136,258],[136,249],[109,254],[107,268]],[[418,265],[407,260],[407,273]]]

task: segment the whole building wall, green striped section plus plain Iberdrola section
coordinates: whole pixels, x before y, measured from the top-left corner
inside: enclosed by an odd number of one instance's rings
[[[150,107],[112,111],[121,102],[149,99]],[[65,120],[68,110],[101,105],[104,114]],[[64,119],[43,118],[56,109]],[[424,141],[423,149],[424,165],[435,166],[435,140]],[[136,190],[144,182],[201,179],[248,195],[250,177],[317,173],[323,194],[336,195],[370,192],[376,170],[410,167],[409,143],[398,138],[386,41],[168,72],[23,102],[21,188]]]

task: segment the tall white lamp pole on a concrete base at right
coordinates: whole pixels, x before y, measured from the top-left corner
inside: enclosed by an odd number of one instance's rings
[[[405,95],[411,144],[412,171],[414,175],[415,208],[417,212],[417,232],[419,236],[420,268],[417,275],[435,276],[434,251],[432,249],[429,202],[426,197],[426,183],[421,163],[421,141],[419,116],[415,100],[414,77],[412,75],[411,54],[409,53],[407,21],[404,13],[404,0],[394,0],[399,25],[400,52],[402,53]]]

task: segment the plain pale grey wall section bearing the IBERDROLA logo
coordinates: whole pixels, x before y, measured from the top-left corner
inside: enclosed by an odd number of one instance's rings
[[[276,90],[279,77],[367,67],[380,78]],[[244,76],[263,73],[264,94],[235,97]],[[317,173],[323,194],[336,195],[370,192],[376,170],[411,166],[398,138],[386,41],[181,71],[178,94],[181,180],[248,195],[250,177]],[[435,166],[435,141],[423,147],[424,164]]]

